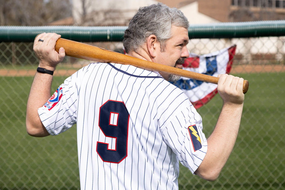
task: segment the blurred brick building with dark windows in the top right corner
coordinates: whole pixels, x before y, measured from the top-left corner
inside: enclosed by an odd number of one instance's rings
[[[280,20],[285,18],[285,1],[199,0],[198,10],[221,22]]]

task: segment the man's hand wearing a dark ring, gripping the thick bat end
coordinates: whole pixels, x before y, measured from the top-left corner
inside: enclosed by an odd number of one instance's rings
[[[54,49],[56,41],[60,37],[61,35],[56,33],[42,33],[36,36],[33,49],[39,59],[39,67],[54,71],[56,65],[63,60],[64,48],[61,47],[59,53]]]

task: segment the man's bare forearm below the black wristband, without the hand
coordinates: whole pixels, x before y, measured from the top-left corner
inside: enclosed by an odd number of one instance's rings
[[[39,65],[41,66],[41,64]],[[44,66],[42,66],[44,67]],[[45,67],[46,68],[46,67]],[[46,68],[54,70],[54,68]],[[38,108],[42,107],[50,98],[52,75],[36,72],[27,102],[26,127],[31,136],[48,136],[38,115]]]

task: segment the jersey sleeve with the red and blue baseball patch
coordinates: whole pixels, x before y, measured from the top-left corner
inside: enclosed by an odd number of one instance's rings
[[[76,123],[78,85],[77,74],[68,77],[52,97],[38,109],[42,124],[51,135],[57,135]]]

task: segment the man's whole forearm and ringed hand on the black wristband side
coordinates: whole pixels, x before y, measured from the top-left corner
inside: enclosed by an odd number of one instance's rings
[[[39,59],[39,67],[54,71],[56,65],[60,63],[64,56],[64,48],[58,52],[54,47],[60,35],[55,33],[42,33],[36,36],[33,50]],[[38,115],[38,108],[42,107],[50,98],[50,88],[52,84],[52,75],[47,73],[38,73],[34,77],[27,103],[26,126],[27,132],[31,136],[48,136]]]

